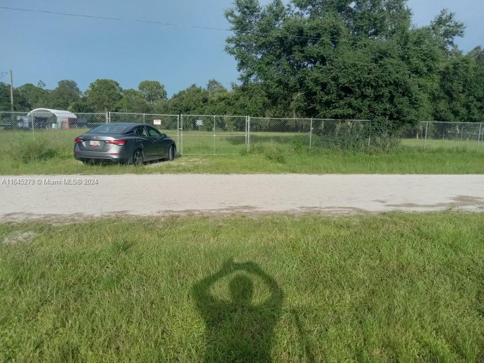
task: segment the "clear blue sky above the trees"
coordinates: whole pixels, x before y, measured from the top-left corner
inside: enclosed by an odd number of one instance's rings
[[[267,3],[262,1],[261,3]],[[227,28],[223,11],[232,0],[0,0],[0,6],[127,19],[110,21],[0,9],[0,72],[14,72],[14,86],[43,80],[54,88],[73,79],[81,90],[97,78],[123,88],[158,80],[171,95],[215,78],[226,87],[237,80],[234,59],[225,53],[228,32],[136,23],[142,19]],[[425,25],[448,8],[467,25],[460,47],[484,45],[482,0],[409,0],[414,22]],[[4,77],[3,82],[8,78]]]

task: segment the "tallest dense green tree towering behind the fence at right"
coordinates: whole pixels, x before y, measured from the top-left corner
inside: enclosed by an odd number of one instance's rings
[[[243,86],[263,89],[266,115],[368,118],[382,132],[432,119],[464,31],[447,11],[412,27],[390,0],[236,0],[226,17],[226,49]]]

